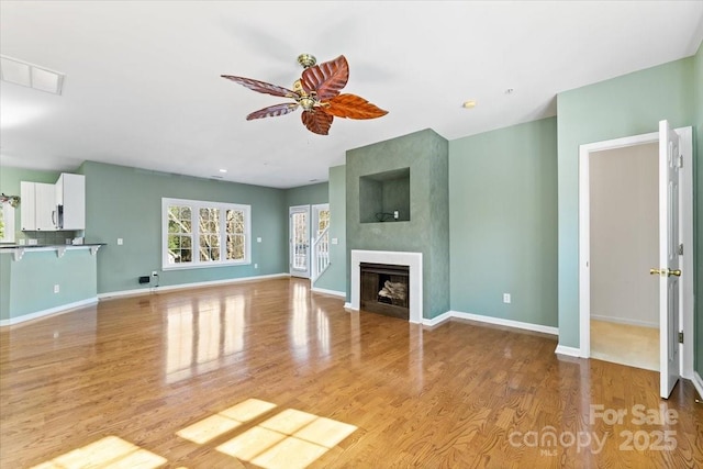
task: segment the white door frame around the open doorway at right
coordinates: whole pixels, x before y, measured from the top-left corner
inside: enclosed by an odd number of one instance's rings
[[[682,154],[690,155],[683,161],[679,205],[680,233],[683,239],[681,270],[684,272],[681,277],[683,288],[679,324],[685,336],[681,354],[681,377],[693,379],[693,130],[683,127],[676,129],[676,132],[681,138]],[[579,146],[579,355],[582,358],[591,356],[590,155],[592,152],[658,142],[659,132],[652,132]]]

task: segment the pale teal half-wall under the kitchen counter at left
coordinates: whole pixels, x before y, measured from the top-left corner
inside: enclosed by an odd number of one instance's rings
[[[60,308],[65,304],[97,299],[96,256],[90,249],[27,252],[21,260],[12,254],[0,254],[3,276],[0,320]],[[54,286],[59,292],[54,293]]]

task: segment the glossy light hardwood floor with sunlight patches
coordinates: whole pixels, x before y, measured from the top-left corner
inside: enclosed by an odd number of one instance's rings
[[[658,373],[559,357],[553,336],[350,313],[308,286],[4,328],[0,467],[703,467],[688,381],[662,401]]]

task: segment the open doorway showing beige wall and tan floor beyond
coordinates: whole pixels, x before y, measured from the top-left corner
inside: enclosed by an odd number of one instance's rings
[[[591,152],[591,357],[659,371],[658,142]]]

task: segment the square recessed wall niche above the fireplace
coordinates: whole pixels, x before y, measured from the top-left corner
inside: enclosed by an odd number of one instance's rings
[[[359,177],[359,222],[410,221],[410,168]]]

